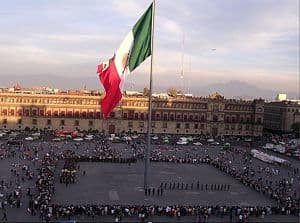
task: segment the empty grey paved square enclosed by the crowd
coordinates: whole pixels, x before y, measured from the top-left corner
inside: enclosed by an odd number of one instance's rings
[[[274,201],[245,187],[230,176],[207,164],[151,163],[151,186],[175,182],[179,189],[166,189],[163,196],[145,197],[143,190],[144,164],[80,163],[81,170],[88,173],[78,177],[78,183],[66,187],[57,182],[54,201],[65,204],[105,203],[105,204],[185,204],[185,205],[276,205]],[[197,190],[200,184],[231,184],[229,191]],[[188,183],[187,190],[181,184]],[[190,185],[193,183],[193,189]]]

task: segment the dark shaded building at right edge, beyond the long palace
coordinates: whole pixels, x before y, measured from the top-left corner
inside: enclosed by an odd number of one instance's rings
[[[278,132],[291,132],[292,125],[300,122],[300,105],[297,101],[265,103],[264,128]]]

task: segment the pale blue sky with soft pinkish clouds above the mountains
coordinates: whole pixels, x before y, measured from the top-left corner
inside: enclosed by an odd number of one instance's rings
[[[20,83],[30,79],[33,86],[34,77],[86,77],[86,86],[94,87],[97,64],[114,54],[149,4],[3,1],[0,86],[17,76]],[[149,67],[147,59],[128,77],[126,87],[148,86]],[[154,88],[201,88],[239,80],[270,90],[298,91],[298,76],[298,0],[156,0]]]

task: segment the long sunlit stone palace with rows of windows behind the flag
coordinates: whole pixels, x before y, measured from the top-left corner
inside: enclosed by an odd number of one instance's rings
[[[148,98],[124,95],[103,119],[101,96],[25,94],[0,92],[0,128],[78,129],[106,133],[146,133]],[[260,136],[264,101],[209,97],[156,96],[153,98],[152,132],[169,134]]]

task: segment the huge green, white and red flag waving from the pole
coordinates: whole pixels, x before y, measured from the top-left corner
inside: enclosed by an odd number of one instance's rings
[[[101,108],[105,118],[122,98],[126,75],[151,55],[152,4],[126,35],[109,61],[98,65],[97,73],[105,89]]]

